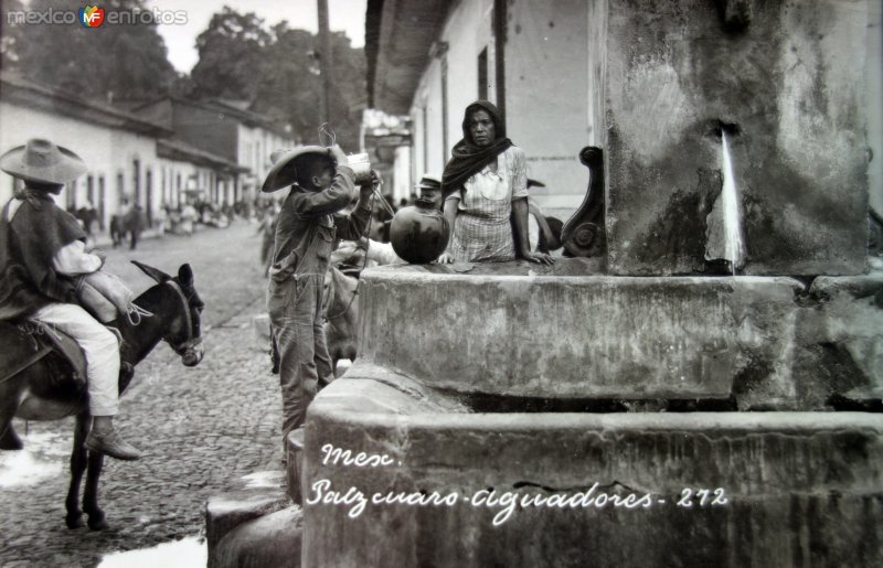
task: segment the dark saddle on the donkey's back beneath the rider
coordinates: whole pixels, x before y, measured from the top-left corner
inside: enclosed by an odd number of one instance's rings
[[[67,368],[53,373],[53,378],[68,376],[78,386],[86,384],[86,356],[66,333],[34,321],[0,321],[0,383],[55,353]]]

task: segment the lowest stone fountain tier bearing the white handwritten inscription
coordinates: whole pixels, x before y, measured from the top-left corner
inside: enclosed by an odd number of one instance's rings
[[[475,414],[467,403],[368,364],[323,389],[306,443],[289,438],[289,463],[302,456],[289,484],[304,497],[304,566],[883,562],[881,415]],[[334,463],[330,447],[364,452],[363,464]],[[504,506],[480,499],[576,500],[593,485],[603,506],[529,504],[497,525]],[[456,495],[369,502],[351,517],[358,492]]]

